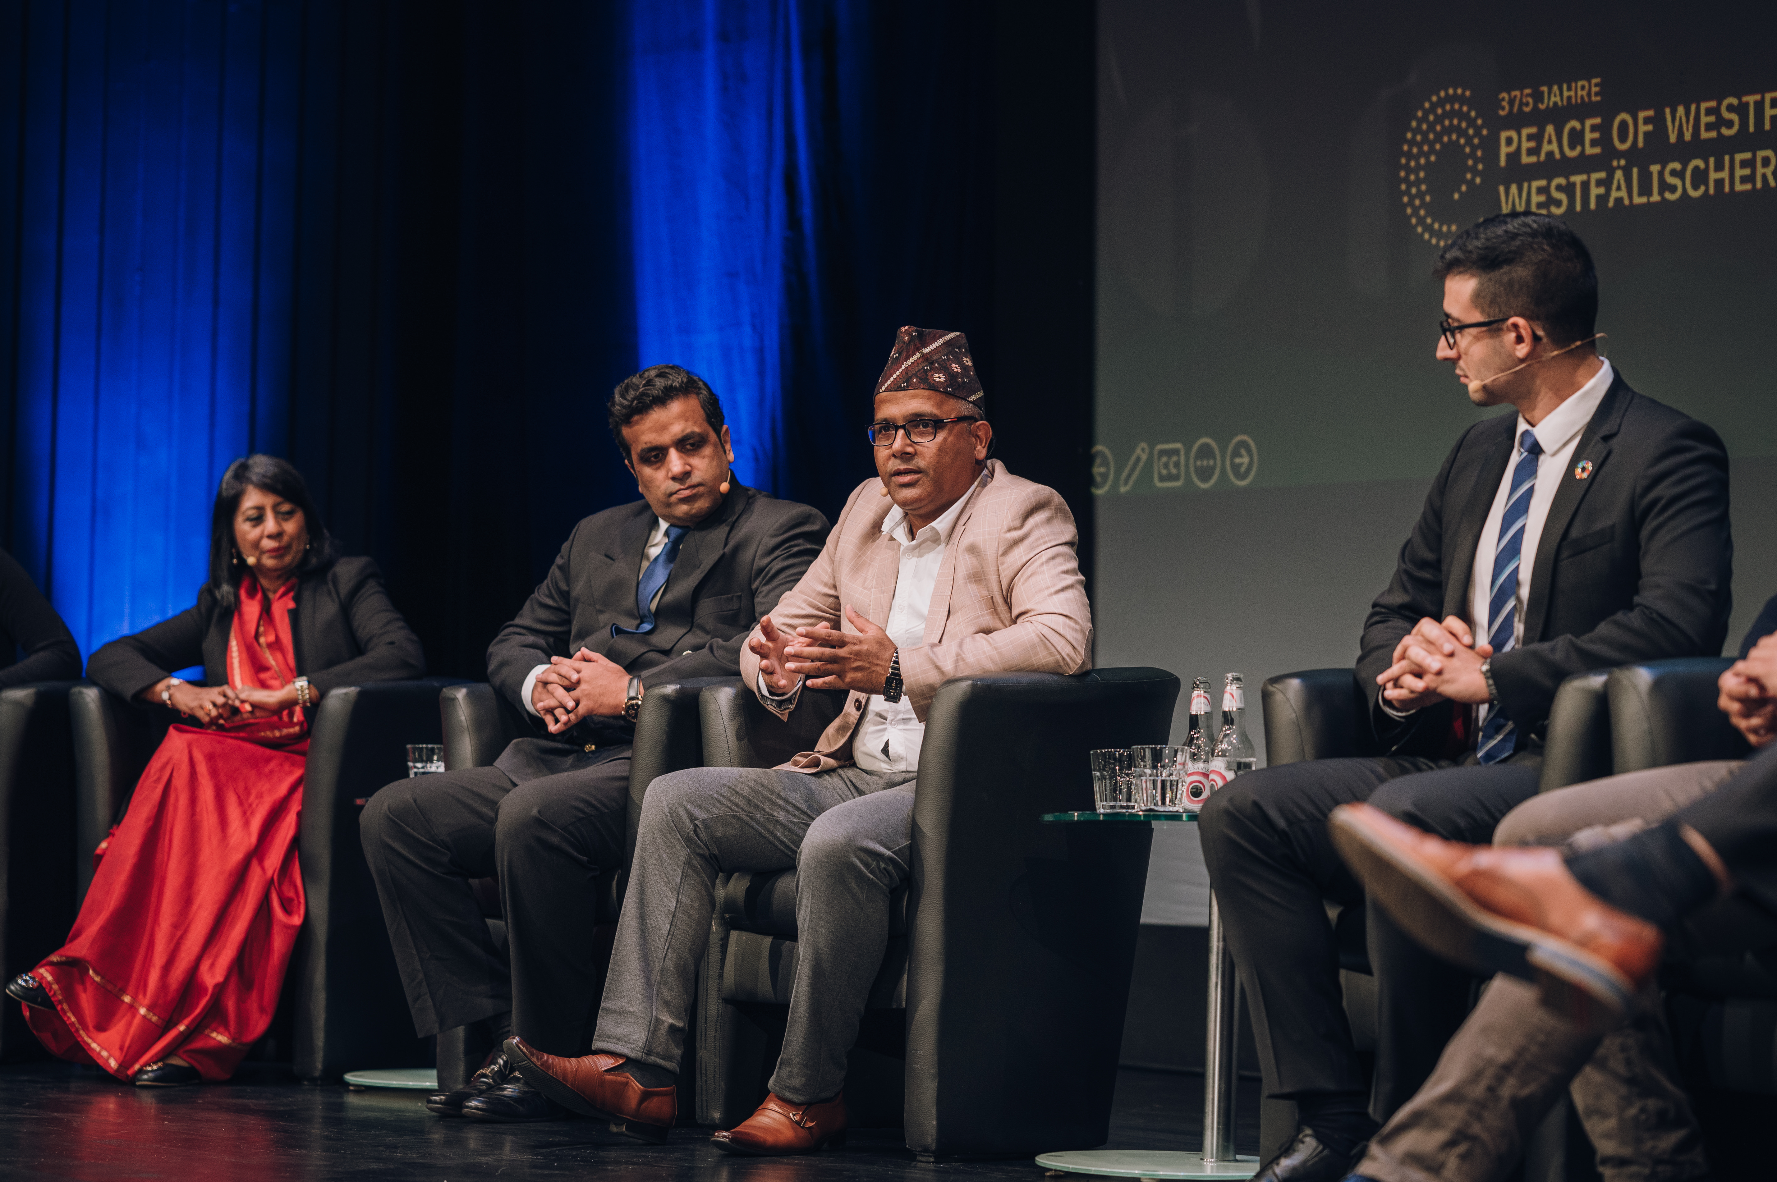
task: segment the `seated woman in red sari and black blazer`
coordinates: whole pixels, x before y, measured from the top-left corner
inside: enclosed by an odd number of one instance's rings
[[[204,667],[204,684],[169,670]],[[139,1086],[227,1079],[265,1034],[302,926],[309,720],[332,688],[418,677],[368,558],[334,558],[302,475],[235,460],[197,606],[92,654],[107,690],[178,711],[68,944],[5,992],[37,1040]]]

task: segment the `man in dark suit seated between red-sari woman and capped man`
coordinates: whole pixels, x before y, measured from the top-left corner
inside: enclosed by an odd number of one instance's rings
[[[624,866],[629,745],[650,684],[739,674],[746,635],[796,585],[826,519],[734,480],[721,403],[695,373],[654,366],[610,403],[643,499],[586,517],[549,578],[487,651],[489,681],[537,729],[492,768],[389,784],[364,809],[370,860],[419,1036],[514,1029],[556,1054],[590,1049],[599,880]],[[506,956],[471,880],[499,880]],[[510,963],[510,970],[508,970]],[[567,1113],[496,1056],[442,1114]],[[467,1106],[467,1107],[466,1107]]]

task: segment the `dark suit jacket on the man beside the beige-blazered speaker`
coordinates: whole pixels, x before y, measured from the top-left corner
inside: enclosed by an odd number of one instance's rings
[[[489,645],[487,679],[540,738],[546,727],[524,709],[522,691],[530,672],[551,656],[586,647],[641,677],[643,686],[737,675],[746,635],[801,579],[828,533],[826,517],[814,508],[736,485],[681,542],[654,610],[654,631],[611,636],[611,624],[640,622],[636,583],[654,521],[649,503],[634,501],[576,524],[549,576]],[[567,771],[581,763],[563,763],[570,743],[578,750],[627,743],[633,734],[622,718],[586,718],[570,736],[549,739],[562,752],[521,739],[530,748],[526,763],[501,755],[499,768],[519,782]]]

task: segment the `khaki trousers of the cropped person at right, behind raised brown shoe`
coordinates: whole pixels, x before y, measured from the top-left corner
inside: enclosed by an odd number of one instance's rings
[[[1594,848],[1658,825],[1713,793],[1738,763],[1651,768],[1532,796],[1494,832],[1496,844]],[[1713,912],[1695,928],[1720,924]],[[1709,1168],[1670,1038],[1649,992],[1635,1018],[1585,1033],[1544,1010],[1525,981],[1496,976],[1445,1047],[1425,1086],[1370,1139],[1354,1173],[1375,1182],[1503,1178],[1562,1088],[1598,1150],[1606,1182],[1679,1182]]]

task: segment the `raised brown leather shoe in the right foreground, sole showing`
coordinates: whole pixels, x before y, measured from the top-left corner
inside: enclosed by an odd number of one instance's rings
[[[1660,930],[1582,887],[1557,850],[1443,841],[1370,805],[1340,805],[1327,825],[1365,890],[1413,938],[1534,981],[1580,1026],[1617,1022],[1660,965]]]

